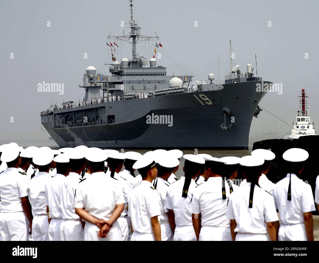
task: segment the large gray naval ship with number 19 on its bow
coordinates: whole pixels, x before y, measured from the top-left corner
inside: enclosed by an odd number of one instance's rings
[[[159,37],[141,34],[133,19],[133,1],[129,6],[130,33],[107,39],[110,74],[87,67],[79,85],[85,90],[83,101],[51,105],[41,112],[50,136],[60,147],[247,149],[252,118],[261,111],[257,105],[267,92],[256,87],[273,83],[255,77],[251,64],[241,72],[232,56],[223,80],[212,73],[194,83],[193,75],[168,76],[155,56],[147,61],[137,54],[137,43]],[[116,60],[118,40],[132,45],[132,58]]]

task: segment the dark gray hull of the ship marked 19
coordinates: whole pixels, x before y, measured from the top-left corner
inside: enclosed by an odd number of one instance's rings
[[[41,116],[41,122],[60,147],[247,149],[253,115],[266,93],[256,91],[257,83],[261,82],[224,84],[221,90],[113,101],[76,108],[105,107],[106,115],[115,115],[115,123],[112,124],[54,128],[53,113]],[[263,83],[271,84],[267,81]],[[226,116],[226,126],[232,126],[227,130],[220,128],[224,123],[223,107],[231,111]],[[54,114],[66,114],[74,110],[64,109],[54,111]],[[151,116],[170,116],[172,122],[150,124]]]

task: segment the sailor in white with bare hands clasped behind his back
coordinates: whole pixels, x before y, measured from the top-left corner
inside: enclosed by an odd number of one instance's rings
[[[91,177],[78,184],[75,213],[85,221],[85,241],[119,241],[122,232],[117,219],[124,209],[123,191],[104,173],[108,155],[99,148],[89,148],[85,155]]]

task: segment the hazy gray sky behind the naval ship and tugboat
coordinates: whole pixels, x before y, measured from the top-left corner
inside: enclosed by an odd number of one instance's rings
[[[58,105],[63,100],[82,100],[85,91],[78,84],[87,66],[108,72],[106,66],[102,67],[105,60],[110,61],[105,40],[109,31],[123,34],[121,21],[130,19],[128,5],[127,0],[1,1],[0,144],[49,142],[49,134],[41,131],[40,111],[48,109],[51,99]],[[270,92],[259,105],[291,124],[299,105],[298,94],[305,88],[316,124],[318,7],[316,1],[134,0],[133,15],[139,20],[141,33],[154,35],[156,31],[163,50],[193,72],[193,80],[207,79],[208,73],[214,73],[217,79],[217,52],[219,76],[224,78],[229,40],[242,71],[246,71],[248,63],[255,67],[257,53],[258,76],[283,83],[281,95]],[[130,58],[131,46],[121,42],[118,45],[118,57]],[[147,43],[138,44],[137,49],[149,59],[154,45],[150,42],[148,48]],[[161,64],[167,66],[169,75],[172,71],[175,75],[186,73],[164,54],[157,62]],[[37,92],[37,84],[43,81],[64,83],[64,94]],[[262,135],[273,131],[283,138],[289,127],[263,111],[253,118],[250,142],[274,138]]]

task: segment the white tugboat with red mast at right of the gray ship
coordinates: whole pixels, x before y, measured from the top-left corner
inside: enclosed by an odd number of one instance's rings
[[[285,139],[298,139],[300,136],[317,135],[315,130],[315,124],[310,117],[310,107],[307,110],[307,101],[305,89],[301,90],[301,96],[299,95],[299,109],[297,110],[296,119],[293,121],[293,129],[291,134],[286,135]]]

